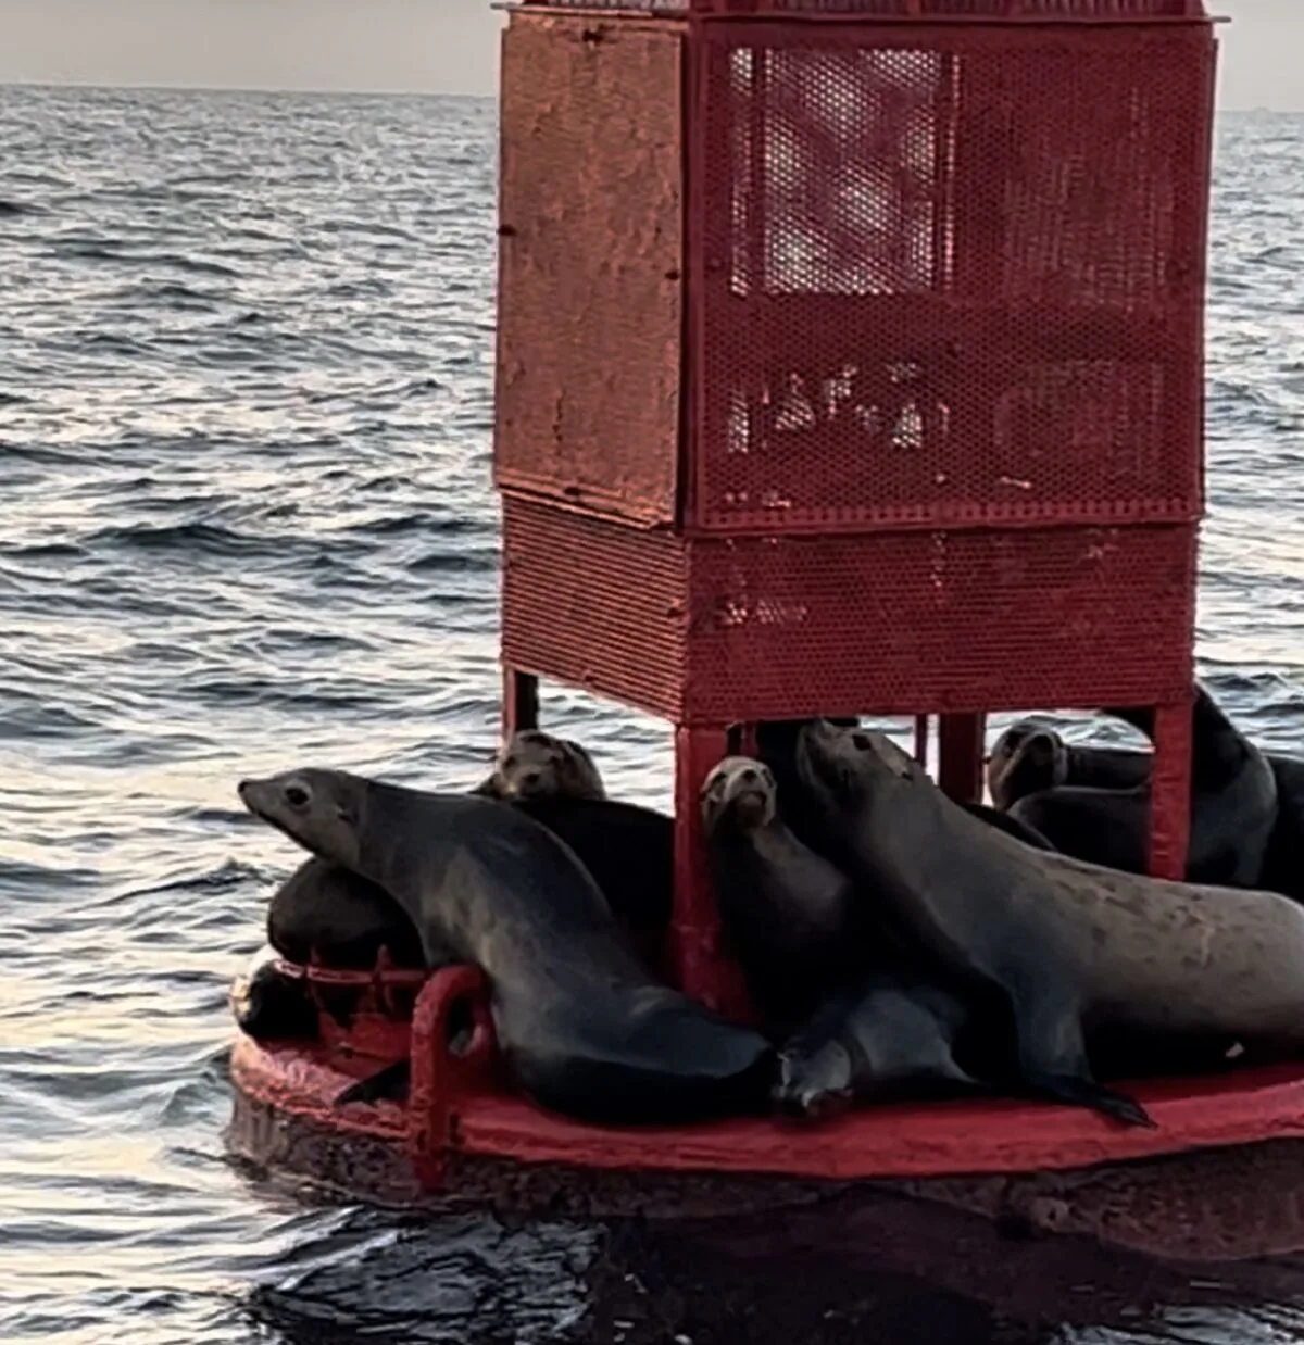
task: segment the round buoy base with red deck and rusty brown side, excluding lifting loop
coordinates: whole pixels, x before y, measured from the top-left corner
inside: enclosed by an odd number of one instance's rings
[[[1299,1069],[1143,1087],[1138,1095],[1159,1119],[1157,1132],[1019,1103],[875,1108],[813,1130],[724,1122],[602,1131],[486,1091],[483,1081],[459,1096],[456,1088],[471,1087],[463,1076],[432,1108],[448,1147],[437,1165],[424,1167],[413,1145],[419,1127],[406,1110],[393,1103],[334,1108],[330,1099],[353,1076],[310,1052],[269,1052],[241,1040],[231,1073],[236,1153],[382,1204],[472,1201],[576,1217],[685,1219],[885,1190],[1192,1262],[1304,1245]],[[880,1173],[867,1170],[875,1146],[857,1134],[865,1130],[880,1137]],[[1164,1153],[1186,1146],[1195,1147]],[[1004,1169],[976,1170],[992,1159]],[[929,1165],[955,1171],[918,1176]]]

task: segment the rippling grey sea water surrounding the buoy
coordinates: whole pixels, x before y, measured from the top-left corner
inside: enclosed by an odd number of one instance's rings
[[[423,1224],[226,1161],[227,985],[297,862],[234,781],[460,783],[494,740],[495,156],[487,102],[0,89],[0,1337],[1299,1338],[1289,1302],[1138,1280],[1102,1334],[1079,1286],[1034,1326],[1044,1286],[977,1271]],[[1304,118],[1225,118],[1219,163],[1200,654],[1304,748]],[[658,725],[546,714],[667,802]]]

